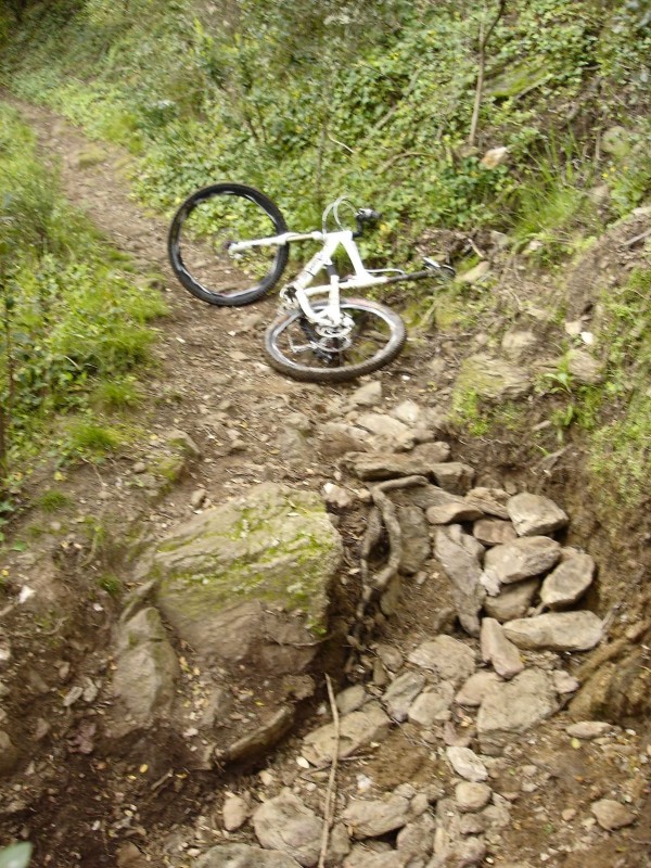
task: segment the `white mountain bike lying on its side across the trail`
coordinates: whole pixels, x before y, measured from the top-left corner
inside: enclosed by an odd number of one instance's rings
[[[356,229],[343,226],[349,209]],[[455,270],[425,258],[421,271],[367,269],[355,239],[380,214],[354,208],[345,197],[323,212],[321,230],[290,232],[282,214],[264,193],[239,183],[218,183],[199,190],[177,210],[168,238],[171,267],[197,298],[212,305],[239,306],[255,302],[280,279],[289,244],[322,242],[305,268],[280,291],[281,312],[268,328],[265,353],[270,365],[296,380],[341,382],[375,371],[403,349],[403,320],[385,305],[343,297],[350,290],[403,280],[438,277]],[[329,222],[336,229],[330,231]],[[343,247],[353,273],[341,278],[333,257]],[[312,286],[326,273],[327,282]]]

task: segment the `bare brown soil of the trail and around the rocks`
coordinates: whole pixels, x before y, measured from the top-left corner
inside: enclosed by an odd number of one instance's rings
[[[164,726],[159,732],[164,751],[151,753],[151,736],[146,742],[127,739],[116,751],[115,744],[105,740],[102,722],[112,703],[107,688],[112,629],[130,574],[124,550],[114,540],[139,537],[144,541],[162,535],[191,514],[191,497],[200,488],[205,488],[213,503],[264,480],[320,490],[323,483],[337,478],[336,464],[316,452],[283,452],[278,445],[283,419],[290,412],[302,412],[318,427],[329,418],[332,403],[359,384],[302,384],[275,373],[261,349],[265,326],[275,315],[275,299],[268,297],[246,308],[214,308],[191,297],[176,283],[167,265],[167,222],[144,214],[129,197],[128,157],[102,144],[101,161],[88,165],[89,142],[77,130],[43,110],[20,108],[36,130],[43,154],[60,166],[67,197],[135,258],[143,278],[156,276],[153,279],[169,303],[170,315],[159,326],[156,363],[146,374],[146,409],[139,421],[150,433],[149,441],[101,465],[69,470],[62,487],[74,506],[55,515],[28,508],[12,528],[14,539],[30,540],[26,551],[10,551],[2,563],[8,600],[2,614],[12,649],[3,677],[12,684],[11,719],[21,720],[24,730],[12,732],[21,752],[18,770],[0,786],[1,840],[31,840],[36,845],[34,864],[39,867],[183,866],[209,843],[255,843],[250,827],[230,835],[225,832],[220,809],[227,792],[246,793],[250,799],[263,792],[264,797],[265,783],[257,774],[263,767],[275,781],[267,784],[267,795],[282,784],[299,784],[306,801],[312,800],[315,809],[321,810],[322,784],[315,788],[309,775],[301,777],[296,756],[299,737],[323,719],[326,694],[321,685],[317,699],[304,707],[295,731],[253,768],[193,769],[183,745],[175,744]],[[515,280],[513,277],[510,282],[510,292],[526,293],[526,280],[521,284]],[[429,365],[439,352],[430,339],[410,341],[396,362],[373,375],[382,382],[387,406],[408,397],[425,405],[445,397],[445,388],[433,395],[431,386]],[[461,353],[448,342],[443,355],[449,380]],[[139,484],[133,468],[151,457],[165,432],[173,429],[187,432],[199,455],[187,463],[170,490],[153,498]],[[545,490],[565,506],[573,516],[569,541],[585,545],[591,540],[600,565],[599,596],[590,602],[602,614],[612,610],[616,635],[622,635],[643,617],[648,515],[636,516],[628,538],[613,538],[612,531],[598,526],[599,521],[582,502],[578,447],[570,445],[558,459],[541,464],[534,447],[511,443],[506,433],[502,441],[482,442],[457,436],[451,443],[454,457],[489,469],[486,478]],[[47,474],[43,470],[33,478],[30,494],[51,480]],[[357,563],[363,524],[361,513],[340,516],[349,567]],[[105,580],[107,575],[117,576],[117,592]],[[35,596],[25,605],[16,605],[12,588],[27,578]],[[411,583],[409,587],[396,614],[374,637],[400,649],[411,649],[431,637],[445,603],[435,583]],[[350,599],[344,591],[340,600],[344,614],[354,605],[353,586],[349,593]],[[2,598],[0,604],[4,604]],[[570,666],[576,669],[580,662]],[[244,682],[255,677],[243,676]],[[77,685],[86,686],[88,692],[71,701],[71,690]],[[99,691],[92,685],[100,685]],[[639,717],[640,707],[622,701],[621,711],[618,723],[628,728],[620,728],[608,749],[591,743],[573,746],[564,731],[570,722],[566,712],[514,741],[492,782],[498,792],[513,794],[512,819],[489,857],[493,861],[486,864],[506,867],[526,860],[532,866],[559,868],[649,865],[649,732]],[[526,796],[519,795],[515,780],[523,765],[537,768],[535,788]],[[432,746],[409,725],[403,725],[381,748],[344,764],[340,793],[355,792],[360,774],[381,791],[405,781],[438,780],[444,770]],[[318,782],[318,777],[315,780]],[[613,794],[635,807],[636,825],[590,837],[590,824],[586,822],[589,804]],[[576,819],[561,819],[562,812],[570,808],[576,809]],[[572,852],[583,839],[583,848]],[[139,851],[144,855],[139,856]]]

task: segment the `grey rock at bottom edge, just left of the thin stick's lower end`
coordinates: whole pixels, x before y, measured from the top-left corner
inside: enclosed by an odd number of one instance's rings
[[[253,814],[253,827],[264,847],[280,850],[305,868],[318,863],[323,820],[291,790],[264,802]]]

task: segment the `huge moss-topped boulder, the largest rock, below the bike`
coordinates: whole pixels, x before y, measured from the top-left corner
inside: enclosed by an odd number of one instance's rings
[[[165,617],[200,654],[278,674],[314,655],[341,559],[316,494],[264,483],[176,527],[149,576]]]

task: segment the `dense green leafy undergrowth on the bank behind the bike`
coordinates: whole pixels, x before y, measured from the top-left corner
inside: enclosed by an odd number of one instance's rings
[[[427,227],[489,225],[515,226],[556,259],[592,220],[585,193],[600,173],[613,216],[651,183],[648,144],[627,156],[595,148],[617,123],[649,141],[651,36],[631,0],[508,3],[487,44],[477,148],[477,38],[497,0],[21,5],[5,82],[139,155],[136,188],[156,208],[230,179],[314,224],[346,191],[384,212],[366,242],[378,256],[408,256]],[[510,164],[486,168],[496,144]]]

